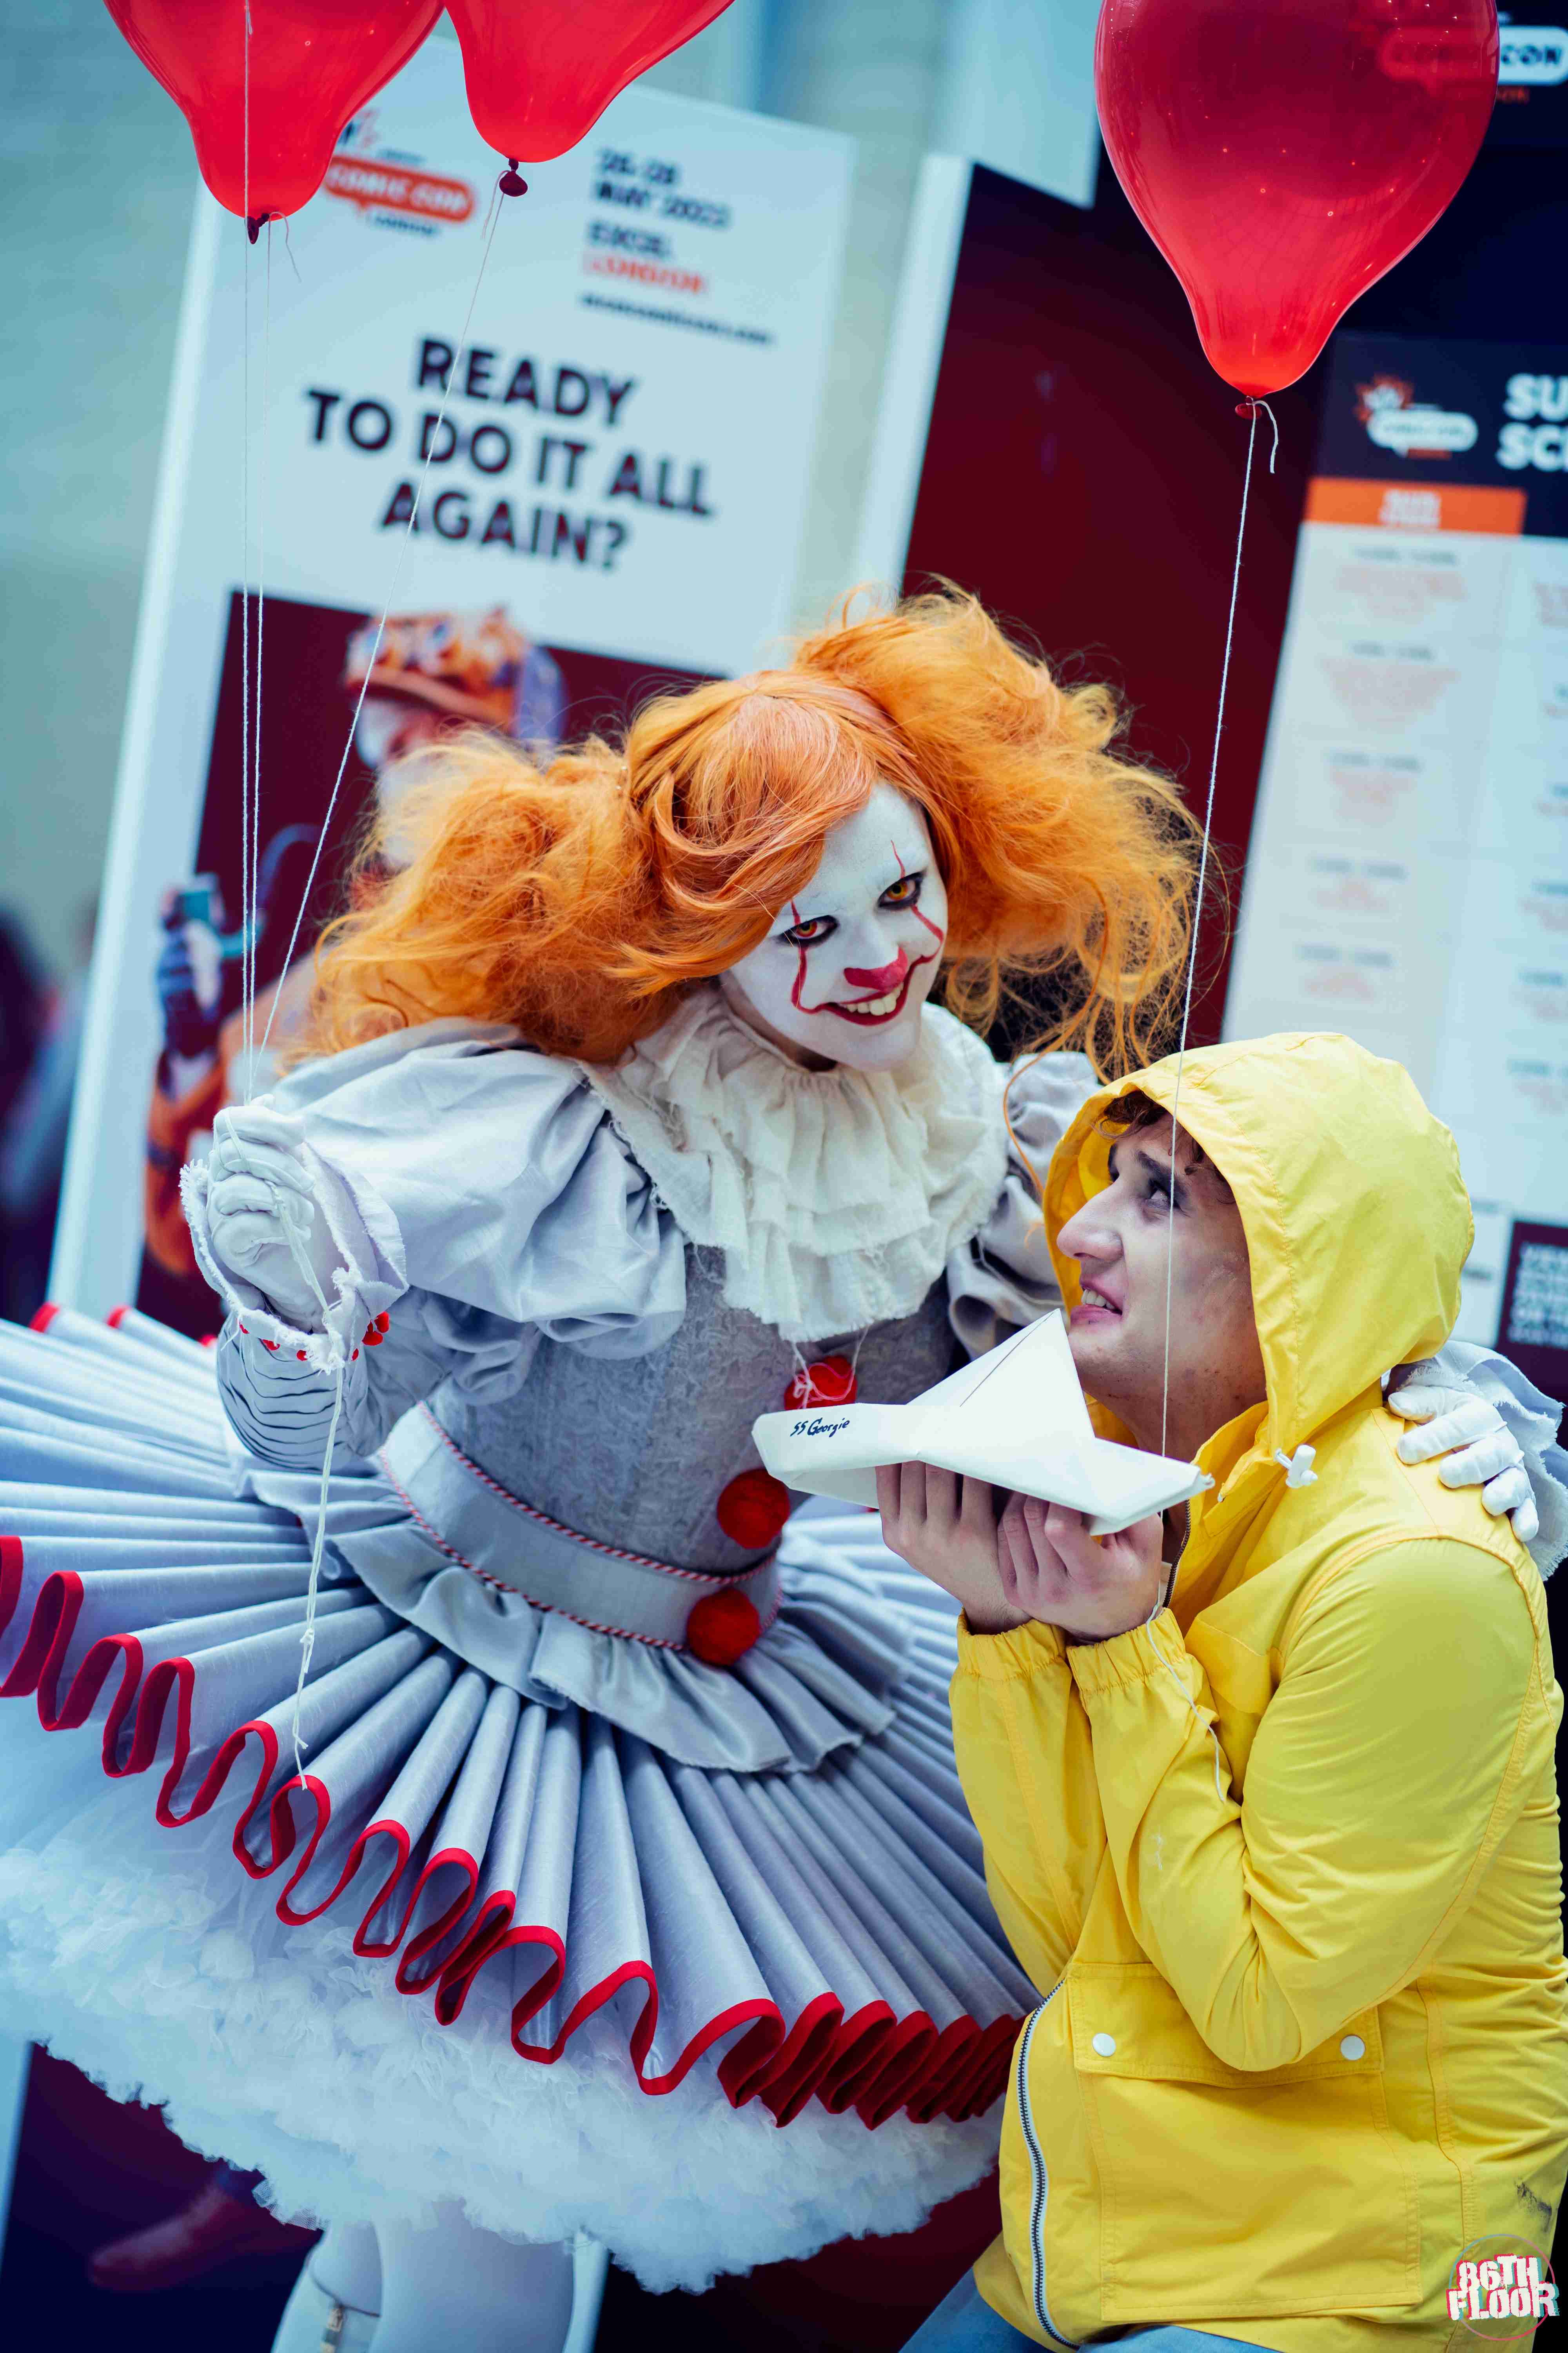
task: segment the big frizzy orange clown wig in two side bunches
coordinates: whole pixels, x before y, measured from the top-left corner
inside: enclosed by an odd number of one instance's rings
[[[1103,685],[1060,687],[954,591],[851,619],[788,668],[644,704],[548,767],[473,732],[397,807],[414,859],[324,934],[334,1052],[458,1014],[614,1061],[738,962],[877,784],[926,816],[950,901],[945,1000],[976,1028],[1048,976],[1051,1045],[1145,1059],[1180,993],[1197,826],[1117,758]],[[386,871],[371,833],[362,861]]]

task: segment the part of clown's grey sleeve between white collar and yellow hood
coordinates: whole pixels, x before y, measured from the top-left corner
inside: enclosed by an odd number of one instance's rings
[[[1006,1176],[997,1207],[947,1259],[947,1318],[969,1355],[1063,1304],[1039,1205],[1051,1153],[1095,1092],[1086,1054],[1034,1054],[1009,1073]]]

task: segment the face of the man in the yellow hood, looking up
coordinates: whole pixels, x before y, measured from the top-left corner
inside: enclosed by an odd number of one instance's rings
[[[1267,1391],[1241,1212],[1208,1160],[1171,1122],[1126,1129],[1112,1181],[1058,1235],[1084,1287],[1070,1346],[1079,1381],[1140,1438],[1159,1445],[1166,1393],[1171,1438],[1192,1452]],[[1199,1431],[1192,1440],[1192,1431]]]

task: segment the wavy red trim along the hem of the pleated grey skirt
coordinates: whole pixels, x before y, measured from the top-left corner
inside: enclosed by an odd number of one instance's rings
[[[12,1624],[21,1600],[24,1546],[19,1537],[0,1537],[0,1633]],[[522,2059],[541,2066],[555,2064],[578,2026],[602,2009],[623,1986],[644,1988],[642,2009],[630,2033],[630,2057],[637,2082],[649,2094],[672,2092],[715,2042],[726,2035],[738,2040],[719,2061],[719,2082],[731,2106],[741,2108],[759,2099],[778,2125],[792,2122],[799,2111],[820,2099],[827,2111],[853,2108],[875,2129],[900,2111],[914,2122],[936,2118],[961,2120],[992,2106],[1006,2089],[1011,2049],[1020,2028],[1018,2017],[999,2017],[980,2026],[971,2017],[954,2019],[936,2028],[933,2019],[917,2009],[900,2019],[886,2002],[870,2002],[844,2017],[844,2005],[832,1993],[816,1995],[806,2009],[785,2024],[776,2002],[759,1998],[733,2002],[717,2012],[691,2035],[675,2064],[654,2075],[646,2071],[649,2052],[658,2028],[658,1979],[649,1962],[628,1960],[597,1986],[581,1995],[559,2033],[550,2040],[529,2038],[529,2026],[559,1991],[567,1972],[567,1948],[562,1937],[538,1922],[515,1918],[517,1897],[491,1894],[475,1920],[468,1922],[458,1944],[440,1958],[440,1948],[463,1922],[480,1887],[480,1864],[461,1847],[442,1847],[430,1854],[407,1894],[395,1922],[378,1915],[393,1901],[397,1880],[407,1871],[411,1842],[400,1821],[376,1819],[355,1838],[336,1885],[320,1904],[306,1908],[294,1904],[315,1854],[331,1826],[331,1798],[315,1774],[289,1779],[266,1802],[266,1788],[280,1758],[277,1732],[259,1720],[237,1725],[212,1765],[200,1788],[183,1809],[176,1809],[176,1791],[190,1760],[190,1701],[195,1692],[195,1659],[160,1659],[143,1673],[143,1654],[136,1635],[101,1635],[75,1668],[66,1694],[59,1682],[71,1647],[71,1635],[82,1609],[82,1579],[59,1569],[45,1579],[33,1617],[21,1642],[16,1664],[0,1699],[38,1694],[38,1718],[45,1732],[63,1732],[82,1725],[113,1682],[103,1722],[103,1772],[122,1779],[146,1772],[160,1748],[165,1715],[174,1706],[172,1762],[158,1788],[158,1821],[179,1828],[207,1814],[249,1744],[256,1744],[256,1774],[252,1795],[235,1824],[233,1849],[242,1868],[254,1880],[266,1880],[284,1864],[294,1861],[282,1894],[277,1918],[289,1927],[320,1920],[324,1911],[348,1892],[360,1868],[374,1873],[374,1897],[360,1918],[353,1948],[360,1955],[390,1960],[400,1955],[395,1984],[400,1993],[418,1995],[435,1988],[435,2017],[442,2026],[458,2019],[468,1993],[494,1960],[515,1946],[534,1946],[541,1953],[541,1972],[512,2005],[512,2049]],[[315,1821],[301,1847],[296,1826],[296,1802],[315,1807]],[[386,1842],[386,1864],[371,1857],[376,1842]],[[421,1899],[440,1871],[461,1871],[458,1889],[442,1911],[428,1920],[416,1937],[409,1925]]]

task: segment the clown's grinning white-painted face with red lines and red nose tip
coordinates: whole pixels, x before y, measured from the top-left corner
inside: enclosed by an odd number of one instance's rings
[[[896,1071],[947,939],[947,892],[919,809],[879,784],[823,842],[769,936],[722,976],[733,1009],[795,1061]]]

